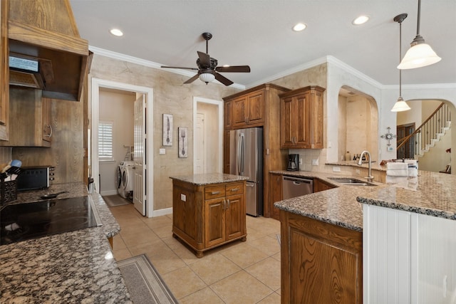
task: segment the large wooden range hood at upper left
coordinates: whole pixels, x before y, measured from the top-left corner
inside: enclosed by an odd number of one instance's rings
[[[9,1],[8,38],[10,85],[40,89],[44,98],[81,100],[88,41],[79,36],[67,0]]]

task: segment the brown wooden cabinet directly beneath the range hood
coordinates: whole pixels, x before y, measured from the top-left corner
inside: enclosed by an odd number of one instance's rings
[[[41,90],[9,90],[9,141],[0,142],[7,147],[51,147],[51,100],[41,98]]]

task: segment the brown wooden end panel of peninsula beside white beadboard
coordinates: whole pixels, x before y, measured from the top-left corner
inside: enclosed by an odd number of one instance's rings
[[[281,303],[363,303],[363,233],[280,210]]]

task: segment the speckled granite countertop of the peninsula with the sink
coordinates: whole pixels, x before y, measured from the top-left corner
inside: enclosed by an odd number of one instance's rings
[[[418,177],[407,179],[405,187],[404,184],[381,183],[375,183],[377,187],[360,187],[345,186],[328,179],[343,177],[341,174],[304,171],[271,173],[318,178],[334,185],[336,188],[278,201],[274,206],[355,231],[363,230],[362,204],[456,219],[456,177],[450,174],[419,171]]]

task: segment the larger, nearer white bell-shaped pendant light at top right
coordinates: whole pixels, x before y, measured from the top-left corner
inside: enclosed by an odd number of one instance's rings
[[[435,51],[425,43],[425,39],[420,35],[420,11],[421,0],[418,0],[418,22],[416,26],[416,36],[410,43],[410,48],[403,60],[398,65],[398,69],[407,70],[409,68],[421,68],[426,65],[431,65],[442,60]]]

